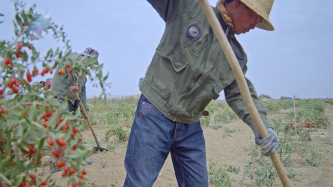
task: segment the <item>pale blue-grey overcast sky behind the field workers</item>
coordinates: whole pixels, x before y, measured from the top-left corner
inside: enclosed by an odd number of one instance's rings
[[[217,0],[209,2],[215,6]],[[37,12],[64,25],[73,51],[98,50],[103,71],[110,72],[107,93],[140,93],[139,79],[165,27],[146,0],[27,0],[27,7],[32,3]],[[270,15],[275,31],[257,28],[237,36],[248,56],[246,77],[258,94],[333,98],[332,10],[332,0],[276,0]],[[0,13],[5,15],[0,39],[9,39],[14,36],[13,1],[1,0]],[[56,47],[47,40],[35,42],[40,51]],[[88,81],[87,96],[99,93]]]

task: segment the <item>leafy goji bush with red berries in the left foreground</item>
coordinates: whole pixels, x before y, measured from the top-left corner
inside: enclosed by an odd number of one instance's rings
[[[56,186],[51,175],[37,175],[45,147],[51,148],[51,158],[63,169],[69,185],[85,186],[88,150],[75,116],[67,111],[67,102],[54,98],[51,89],[33,82],[47,74],[77,71],[82,76],[84,72],[104,93],[108,76],[103,76],[102,64],[93,65],[93,58],[68,58],[71,47],[63,27],[38,14],[36,5],[26,8],[21,0],[13,4],[15,37],[0,41],[0,187]],[[50,46],[41,54],[34,42],[49,34],[61,47]],[[59,71],[54,72],[57,67]]]

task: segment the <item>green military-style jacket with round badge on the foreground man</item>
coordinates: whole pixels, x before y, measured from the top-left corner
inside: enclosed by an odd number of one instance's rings
[[[140,79],[140,91],[167,118],[195,123],[200,120],[208,103],[217,99],[224,90],[229,106],[256,132],[233,72],[199,2],[148,2],[164,19],[166,28],[145,77]],[[217,8],[214,11],[245,74],[247,56],[233,29],[224,22]],[[246,80],[264,125],[272,127],[253,84]]]

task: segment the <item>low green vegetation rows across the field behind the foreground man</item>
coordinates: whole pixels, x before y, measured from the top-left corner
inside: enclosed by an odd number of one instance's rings
[[[126,143],[139,97],[138,94],[108,99],[97,97],[88,99],[92,126],[110,128],[105,135],[106,141],[115,136],[114,144]],[[262,100],[262,103],[267,108],[268,114],[284,114],[283,121],[286,124],[283,129],[296,126],[325,128],[330,123],[324,113],[323,101],[333,104],[333,100],[328,99],[296,99],[295,103],[294,100],[273,99]],[[213,100],[205,110],[209,112],[209,115],[201,118],[204,128],[219,128],[225,123],[238,119],[236,113],[225,101]],[[80,119],[79,122],[83,128],[88,129],[83,119]],[[271,123],[274,123],[274,120]]]

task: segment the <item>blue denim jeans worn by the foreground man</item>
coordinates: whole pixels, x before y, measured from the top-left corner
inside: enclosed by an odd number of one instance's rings
[[[208,187],[200,122],[171,121],[141,94],[126,151],[124,187],[151,187],[169,152],[179,187]]]

